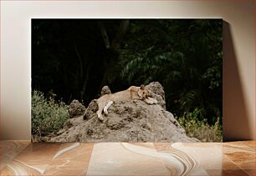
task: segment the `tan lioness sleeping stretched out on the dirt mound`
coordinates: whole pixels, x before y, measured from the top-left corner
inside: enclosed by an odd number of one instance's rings
[[[144,85],[141,87],[131,86],[130,88],[120,91],[117,93],[105,94],[102,97],[98,98],[96,101],[98,103],[97,115],[100,120],[103,120],[102,111],[107,114],[108,108],[110,108],[112,103],[115,103],[117,100],[135,100],[141,99],[148,104],[156,104],[157,101],[154,98],[150,98],[150,91],[145,88]]]

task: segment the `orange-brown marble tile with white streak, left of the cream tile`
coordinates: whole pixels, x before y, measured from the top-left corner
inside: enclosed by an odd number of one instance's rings
[[[30,143],[1,175],[85,175],[93,143]]]

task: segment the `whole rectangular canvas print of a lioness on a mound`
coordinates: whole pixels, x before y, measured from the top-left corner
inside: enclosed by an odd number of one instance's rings
[[[31,23],[33,142],[222,141],[222,19]]]

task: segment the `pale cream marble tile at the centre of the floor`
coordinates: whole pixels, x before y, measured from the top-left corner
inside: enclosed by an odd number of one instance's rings
[[[96,143],[88,175],[168,175],[152,143]]]

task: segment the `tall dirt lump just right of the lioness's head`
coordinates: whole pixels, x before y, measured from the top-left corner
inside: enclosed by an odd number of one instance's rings
[[[166,110],[165,91],[159,82],[152,82],[146,85],[146,88],[152,92],[152,97],[157,100],[157,103]]]

